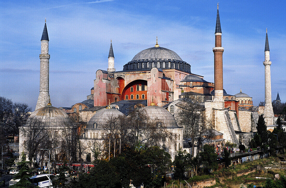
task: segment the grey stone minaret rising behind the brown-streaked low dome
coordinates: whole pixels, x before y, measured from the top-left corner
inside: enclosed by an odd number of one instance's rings
[[[40,94],[35,110],[47,106],[49,103],[49,59],[49,36],[45,20],[45,26],[41,38]]]

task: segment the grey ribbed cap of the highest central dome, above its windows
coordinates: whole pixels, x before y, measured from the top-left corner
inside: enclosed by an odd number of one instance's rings
[[[143,61],[143,60],[171,60],[171,61],[183,61],[176,52],[162,47],[152,47],[146,50],[142,50],[134,58],[133,61]]]

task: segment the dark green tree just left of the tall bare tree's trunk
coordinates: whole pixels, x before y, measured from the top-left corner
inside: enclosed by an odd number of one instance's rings
[[[174,179],[185,179],[184,172],[186,170],[186,151],[178,151],[173,161],[174,165]]]

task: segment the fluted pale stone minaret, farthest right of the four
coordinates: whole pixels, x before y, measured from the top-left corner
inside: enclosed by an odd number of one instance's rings
[[[265,66],[265,108],[264,108],[264,118],[266,125],[274,124],[274,113],[271,100],[271,75],[270,75],[270,56],[269,56],[269,43],[266,29],[266,39],[265,39],[265,61],[263,65]]]

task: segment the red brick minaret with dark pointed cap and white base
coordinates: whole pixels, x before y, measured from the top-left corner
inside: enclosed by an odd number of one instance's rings
[[[219,3],[217,4],[217,23],[215,28],[215,98],[213,108],[224,109],[223,100],[223,47],[221,47],[221,22],[219,20]]]

